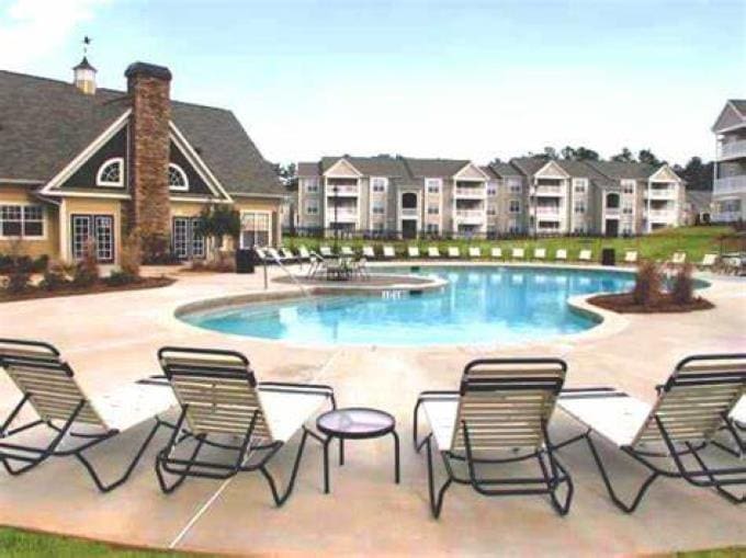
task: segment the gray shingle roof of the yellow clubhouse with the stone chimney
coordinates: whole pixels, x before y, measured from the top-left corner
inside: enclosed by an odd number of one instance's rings
[[[122,91],[86,95],[67,82],[0,70],[0,179],[46,182],[129,107]],[[173,101],[171,119],[230,193],[283,189],[236,116]]]

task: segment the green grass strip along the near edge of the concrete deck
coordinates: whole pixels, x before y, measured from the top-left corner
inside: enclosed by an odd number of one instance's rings
[[[116,558],[197,558],[207,555],[188,553],[137,550],[116,547],[105,543],[94,543],[74,537],[30,533],[10,527],[0,527],[0,556],[3,558],[29,558],[54,556],[56,558],[88,558],[114,556]],[[746,548],[720,548],[714,550],[694,550],[674,553],[667,556],[675,558],[743,558]]]

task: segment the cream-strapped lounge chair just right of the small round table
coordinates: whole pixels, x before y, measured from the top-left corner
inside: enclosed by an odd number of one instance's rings
[[[560,463],[547,424],[567,366],[556,358],[485,358],[464,368],[459,391],[423,391],[414,415],[414,442],[427,447],[430,511],[440,515],[445,491],[453,483],[471,485],[484,496],[550,497],[560,515],[569,510],[573,481]],[[430,433],[418,440],[420,408]],[[436,491],[433,447],[448,476]],[[521,477],[490,477],[477,471],[486,465],[534,460],[536,472]],[[462,470],[456,470],[456,469]],[[565,486],[561,500],[558,491]]]

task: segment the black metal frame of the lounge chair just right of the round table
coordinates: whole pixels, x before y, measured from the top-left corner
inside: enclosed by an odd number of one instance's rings
[[[494,390],[499,385],[501,390],[532,390],[542,389],[552,390],[558,395],[562,390],[563,380],[540,380],[535,378],[505,378],[490,379],[481,383],[479,379],[468,378],[468,373],[481,365],[489,364],[516,364],[516,365],[532,365],[532,364],[550,364],[558,365],[563,373],[567,371],[567,365],[564,361],[558,358],[482,358],[472,361],[464,368],[464,375],[459,391],[437,390],[422,391],[417,399],[414,410],[414,429],[412,442],[415,451],[420,453],[422,447],[427,448],[428,460],[428,493],[430,498],[430,511],[433,517],[440,516],[447,490],[452,483],[470,485],[477,493],[486,497],[512,497],[512,496],[549,496],[552,508],[558,515],[566,515],[569,511],[574,485],[567,469],[562,465],[554,453],[554,446],[551,443],[546,421],[541,420],[542,435],[545,441],[544,447],[532,451],[528,454],[518,455],[507,458],[481,458],[474,456],[474,452],[470,439],[470,425],[466,421],[457,426],[462,429],[465,452],[441,451],[440,455],[443,460],[447,479],[436,489],[434,465],[433,465],[433,433],[426,435],[421,441],[418,437],[419,424],[419,409],[426,401],[433,400],[455,400],[464,396],[468,391],[488,391]],[[505,465],[509,463],[523,462],[535,459],[541,470],[541,476],[538,477],[483,477],[477,472],[478,465]],[[467,476],[460,476],[454,470],[454,464],[464,464],[466,466]],[[558,496],[558,490],[563,485],[566,485],[566,494],[564,499]],[[516,486],[528,486],[529,488],[513,488]]]

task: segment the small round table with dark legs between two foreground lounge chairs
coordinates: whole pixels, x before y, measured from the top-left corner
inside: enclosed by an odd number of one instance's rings
[[[335,409],[316,420],[316,428],[327,439],[324,442],[324,492],[329,493],[329,444],[339,440],[339,465],[344,465],[346,440],[370,440],[391,434],[394,437],[394,479],[399,483],[399,436],[396,420],[378,409],[350,407]]]

